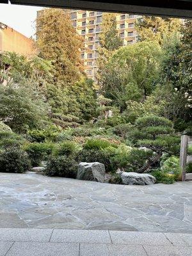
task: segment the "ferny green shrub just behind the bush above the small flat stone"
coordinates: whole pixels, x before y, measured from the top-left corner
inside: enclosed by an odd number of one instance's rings
[[[46,129],[42,130],[29,130],[28,135],[31,137],[32,141],[44,142],[45,140],[55,141],[60,133],[60,128],[56,125],[51,125]]]

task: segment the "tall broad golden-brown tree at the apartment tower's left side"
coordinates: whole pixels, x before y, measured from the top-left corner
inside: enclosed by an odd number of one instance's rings
[[[36,20],[39,56],[52,61],[56,81],[73,83],[83,72],[79,49],[82,38],[77,35],[69,13],[61,9],[42,10]]]

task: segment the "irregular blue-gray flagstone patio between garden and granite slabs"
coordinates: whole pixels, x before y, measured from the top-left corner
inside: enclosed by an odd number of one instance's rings
[[[0,227],[192,233],[192,182],[122,186],[0,173]]]

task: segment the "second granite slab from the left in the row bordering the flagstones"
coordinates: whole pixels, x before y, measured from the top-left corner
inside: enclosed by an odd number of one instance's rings
[[[51,242],[63,243],[111,243],[106,230],[62,230],[52,232]]]

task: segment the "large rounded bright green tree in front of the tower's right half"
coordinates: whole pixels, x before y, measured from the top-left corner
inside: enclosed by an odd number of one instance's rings
[[[104,96],[122,110],[128,100],[145,100],[156,85],[160,57],[161,47],[152,42],[118,49],[101,72]]]

